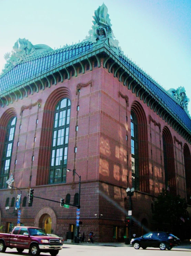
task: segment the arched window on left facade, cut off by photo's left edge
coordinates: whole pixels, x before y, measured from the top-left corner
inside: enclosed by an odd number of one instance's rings
[[[17,117],[12,117],[6,129],[6,136],[4,140],[3,155],[1,161],[0,188],[7,188],[6,181],[9,179],[16,122]]]

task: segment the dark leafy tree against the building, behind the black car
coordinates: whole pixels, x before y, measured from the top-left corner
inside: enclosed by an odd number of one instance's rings
[[[165,189],[154,202],[153,219],[159,224],[168,223],[172,229],[181,223],[180,217],[186,216],[187,202],[179,195],[174,196]]]

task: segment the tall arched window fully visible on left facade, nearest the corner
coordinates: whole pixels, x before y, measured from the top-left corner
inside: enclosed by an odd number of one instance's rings
[[[66,182],[70,100],[59,101],[54,112],[49,183]]]

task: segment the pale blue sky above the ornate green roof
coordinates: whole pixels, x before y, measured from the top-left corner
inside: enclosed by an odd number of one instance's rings
[[[60,48],[81,42],[102,0],[0,0],[0,72],[19,38]],[[166,90],[191,100],[191,0],[104,0],[122,51]],[[188,104],[191,115],[191,101]]]

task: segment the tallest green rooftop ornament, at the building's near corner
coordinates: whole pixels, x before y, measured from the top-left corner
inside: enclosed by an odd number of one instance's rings
[[[89,36],[85,40],[96,43],[98,39],[101,41],[108,40],[110,46],[118,48],[119,41],[114,39],[113,30],[111,29],[108,8],[102,4],[97,10],[94,11],[92,20],[92,28],[89,30]]]

